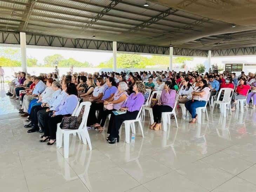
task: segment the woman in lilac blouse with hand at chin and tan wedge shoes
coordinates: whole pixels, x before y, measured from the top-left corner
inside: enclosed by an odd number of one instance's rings
[[[174,108],[176,91],[170,81],[166,81],[159,99],[159,103],[153,106],[154,123],[151,129],[161,129],[162,112],[171,112]]]

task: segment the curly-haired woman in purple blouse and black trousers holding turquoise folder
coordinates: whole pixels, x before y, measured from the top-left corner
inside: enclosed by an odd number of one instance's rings
[[[126,102],[122,105],[120,111],[126,111],[121,115],[112,114],[108,124],[108,142],[110,144],[119,142],[119,128],[123,121],[136,119],[141,106],[144,103],[144,96],[141,93],[145,89],[144,84],[141,81],[136,81],[133,86],[135,93],[130,94]]]

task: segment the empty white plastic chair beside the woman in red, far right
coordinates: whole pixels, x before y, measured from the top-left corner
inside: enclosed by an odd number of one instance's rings
[[[224,91],[223,99],[222,101],[219,101],[222,91]],[[231,99],[232,99],[233,93],[234,93],[234,89],[221,88],[221,90],[218,93],[217,100],[213,102],[213,110],[214,110],[215,104],[219,104],[221,109],[221,114],[223,114],[224,117],[227,116],[227,108],[230,110],[230,115],[232,115]],[[213,114],[213,110],[211,111],[211,114]]]

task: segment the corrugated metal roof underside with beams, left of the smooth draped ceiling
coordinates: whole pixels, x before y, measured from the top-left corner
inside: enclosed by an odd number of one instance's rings
[[[88,38],[94,30],[97,38],[102,40],[167,46],[171,39],[174,45],[181,47],[219,31],[232,32],[230,23],[170,9],[157,4],[158,0],[152,1],[148,1],[149,7],[143,6],[145,0],[118,1],[109,10],[104,8],[111,0],[37,0],[33,7],[28,0],[0,0],[0,26],[2,30],[22,29],[73,38]],[[175,13],[171,13],[173,11]],[[252,28],[237,26],[236,31],[242,30]]]

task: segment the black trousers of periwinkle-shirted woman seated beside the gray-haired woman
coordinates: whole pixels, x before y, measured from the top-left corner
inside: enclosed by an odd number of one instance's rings
[[[96,111],[99,110],[99,117],[96,117]],[[104,111],[103,103],[92,103],[88,115],[87,126],[91,126],[95,123],[100,123],[102,112]]]

